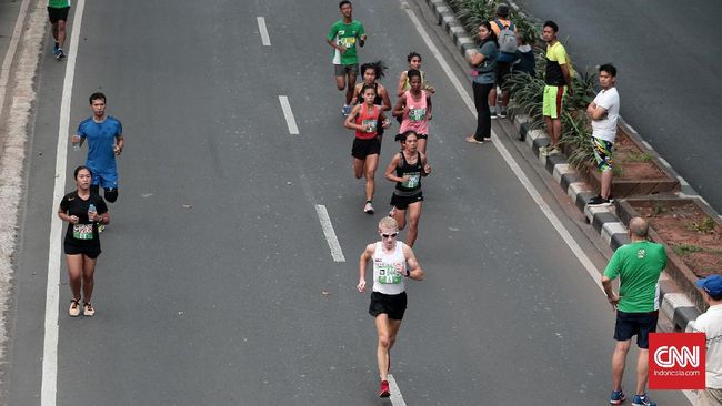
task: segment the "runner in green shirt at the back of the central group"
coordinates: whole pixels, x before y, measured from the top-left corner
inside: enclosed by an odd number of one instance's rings
[[[341,1],[339,9],[343,18],[331,26],[325,42],[333,48],[335,85],[340,91],[345,90],[345,102],[341,112],[348,116],[351,113],[353,88],[355,87],[355,78],[359,74],[359,55],[357,54],[355,44],[358,42],[359,47],[363,47],[367,34],[363,24],[353,19],[353,6],[351,6],[350,1]]]

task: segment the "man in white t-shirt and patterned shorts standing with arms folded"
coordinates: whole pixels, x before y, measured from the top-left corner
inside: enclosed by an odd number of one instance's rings
[[[594,101],[586,106],[586,114],[592,119],[592,149],[596,168],[602,173],[602,187],[599,195],[588,204],[609,204],[612,195],[612,149],[616,138],[616,119],[619,118],[619,93],[616,68],[611,63],[599,67],[599,84],[602,90]]]

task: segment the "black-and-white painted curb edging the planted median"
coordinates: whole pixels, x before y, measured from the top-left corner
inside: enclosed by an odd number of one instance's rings
[[[437,22],[449,34],[457,49],[465,58],[470,50],[477,48],[473,39],[467,33],[463,26],[457,20],[455,14],[451,7],[444,0],[425,0],[427,4],[431,8],[437,19]],[[529,130],[527,125],[528,119],[522,115],[514,115],[509,120],[512,121],[514,128],[519,132],[519,141],[525,142],[533,151],[534,155],[539,158],[540,163],[552,175],[554,181],[560,187],[569,195],[574,205],[584,213],[592,227],[600,234],[600,237],[612,248],[616,250],[620,246],[629,243],[626,234],[626,226],[616,217],[614,209],[610,206],[588,206],[588,202],[596,193],[592,191],[582,176],[574,171],[566,159],[559,155],[544,156],[540,153],[540,148],[549,144],[549,136],[541,130]],[[676,193],[683,197],[695,197],[702,202],[704,200],[690,186],[690,184],[681,177],[672,166],[654,151],[654,149],[642,138],[639,133],[629,125],[620,116],[620,125],[623,125],[628,134],[635,138],[643,143],[654,156],[668,169],[682,185],[682,191]],[[718,214],[719,215],[719,214]],[[660,309],[669,319],[674,324],[675,329],[684,332],[690,324],[700,315],[700,311],[694,306],[692,301],[684,294],[675,292],[673,284],[669,277],[664,276],[660,281]]]

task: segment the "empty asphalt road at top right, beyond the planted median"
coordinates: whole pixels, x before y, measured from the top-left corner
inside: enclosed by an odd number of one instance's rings
[[[578,70],[613,62],[621,114],[718,212],[722,212],[722,3],[534,0],[554,20]]]

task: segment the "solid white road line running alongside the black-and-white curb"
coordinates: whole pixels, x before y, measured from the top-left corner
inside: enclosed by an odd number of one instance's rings
[[[434,55],[439,64],[441,65],[441,69],[447,73],[447,77],[449,77],[449,80],[451,81],[451,84],[457,89],[457,92],[459,95],[461,95],[461,99],[463,100],[464,104],[467,104],[467,108],[472,114],[477,114],[477,109],[474,108],[474,103],[471,100],[471,97],[469,95],[469,92],[464,89],[464,87],[461,84],[457,75],[453,73],[451,70],[451,67],[447,63],[447,61],[443,59],[443,55],[441,52],[439,52],[439,49],[434,43],[431,41],[431,38],[429,38],[429,34],[424,31],[423,26],[421,26],[421,22],[414,14],[414,12],[410,9],[407,9],[407,14],[413,22],[414,27],[417,28],[417,31],[419,31],[419,34],[425,42],[427,47],[431,51],[431,53]],[[507,148],[499,141],[499,136],[492,131],[492,142],[494,143],[494,146],[501,154],[501,156],[507,162],[507,165],[514,172],[514,175],[517,175],[517,179],[521,182],[521,184],[527,189],[527,192],[529,195],[534,200],[539,209],[542,211],[544,216],[549,220],[549,222],[552,224],[552,226],[556,230],[559,235],[564,240],[569,248],[572,251],[572,253],[576,256],[576,258],[582,263],[589,275],[592,277],[592,281],[596,284],[596,286],[603,291],[602,288],[602,283],[600,281],[601,275],[598,272],[596,267],[592,263],[592,261],[586,256],[584,251],[576,244],[574,238],[571,236],[566,227],[562,224],[562,222],[559,220],[556,214],[551,210],[551,207],[544,202],[542,196],[539,194],[534,185],[529,181],[524,172],[521,170],[521,168],[517,164],[514,159],[511,156],[509,151],[507,151]]]

